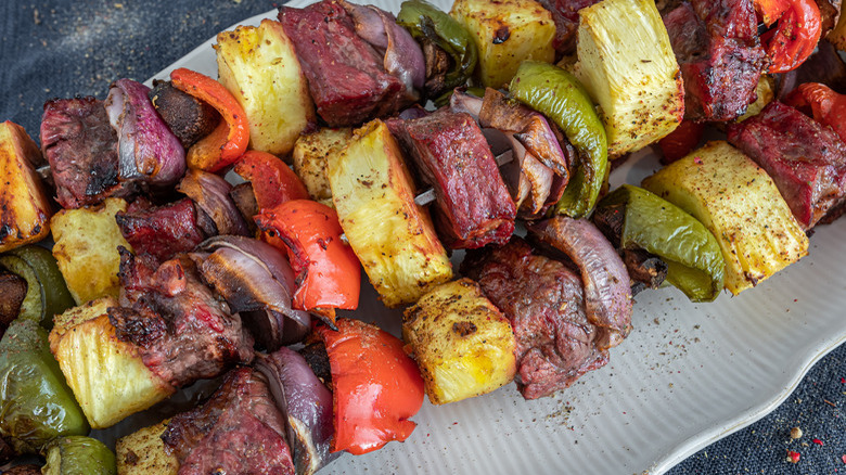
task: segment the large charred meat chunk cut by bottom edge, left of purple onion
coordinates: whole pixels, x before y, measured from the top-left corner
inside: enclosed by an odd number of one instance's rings
[[[174,416],[162,440],[182,475],[294,474],[285,421],[267,378],[249,368],[231,371],[202,406]]]

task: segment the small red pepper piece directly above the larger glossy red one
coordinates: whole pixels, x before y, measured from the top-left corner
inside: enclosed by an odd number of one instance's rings
[[[235,172],[253,184],[259,210],[292,200],[308,200],[306,185],[294,170],[267,152],[247,151],[235,164]]]

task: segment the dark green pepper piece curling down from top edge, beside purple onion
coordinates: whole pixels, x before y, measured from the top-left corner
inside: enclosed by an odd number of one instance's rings
[[[478,63],[478,51],[473,37],[454,18],[425,0],[409,0],[400,5],[397,24],[415,40],[428,39],[452,59],[445,89],[452,90],[467,81]]]

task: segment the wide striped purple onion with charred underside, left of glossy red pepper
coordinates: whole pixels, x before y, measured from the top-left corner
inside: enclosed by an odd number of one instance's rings
[[[259,344],[274,350],[305,337],[311,318],[291,307],[294,272],[275,247],[226,235],[206,240],[197,249],[192,257],[203,280],[241,313]]]

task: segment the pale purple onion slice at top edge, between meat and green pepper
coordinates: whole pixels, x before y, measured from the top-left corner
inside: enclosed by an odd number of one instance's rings
[[[356,34],[384,53],[384,67],[406,85],[406,94],[416,101],[426,81],[423,50],[397,18],[376,7],[342,2],[356,24]]]

